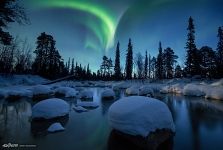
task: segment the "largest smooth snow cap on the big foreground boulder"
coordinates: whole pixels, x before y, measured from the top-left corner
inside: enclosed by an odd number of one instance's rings
[[[143,96],[124,97],[113,103],[108,110],[108,120],[112,128],[130,135],[146,137],[157,129],[175,132],[167,105]]]

